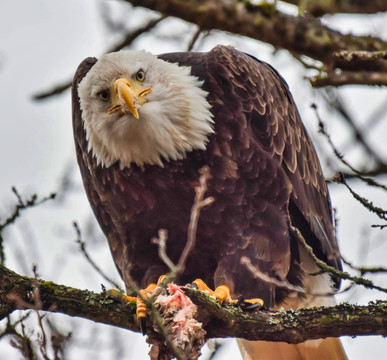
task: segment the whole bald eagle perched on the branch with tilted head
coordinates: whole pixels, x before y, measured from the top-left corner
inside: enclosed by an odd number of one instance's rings
[[[85,59],[73,81],[77,160],[94,214],[124,282],[141,287],[168,268],[151,239],[168,231],[178,262],[204,165],[211,178],[195,248],[179,284],[201,278],[233,297],[278,308],[327,305],[311,295],[338,287],[299,245],[340,268],[329,194],[316,151],[284,79],[232,47]],[[269,278],[254,278],[245,256]],[[277,282],[278,284],[278,282]],[[241,341],[246,359],[345,359],[336,339],[300,345]],[[312,354],[312,355],[311,355]]]

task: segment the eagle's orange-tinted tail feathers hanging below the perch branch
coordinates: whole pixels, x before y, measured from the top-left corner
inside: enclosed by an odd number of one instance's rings
[[[238,339],[238,345],[244,360],[347,360],[337,338],[301,344]]]

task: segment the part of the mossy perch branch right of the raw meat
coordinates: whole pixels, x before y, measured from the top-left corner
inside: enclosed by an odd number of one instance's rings
[[[343,335],[385,335],[387,302],[367,306],[340,304],[299,310],[243,312],[232,306],[221,307],[200,291],[186,289],[186,294],[211,314],[204,322],[208,337],[238,337],[247,340],[300,343],[310,339]],[[200,319],[199,320],[203,321]],[[372,329],[372,330],[371,330]]]

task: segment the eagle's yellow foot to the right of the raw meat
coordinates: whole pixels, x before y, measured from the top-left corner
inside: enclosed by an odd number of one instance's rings
[[[259,298],[256,298],[256,299],[239,298],[238,300],[234,300],[231,297],[230,288],[226,285],[218,286],[213,291],[201,279],[196,279],[192,284],[198,290],[204,291],[204,292],[208,293],[210,296],[214,296],[219,301],[220,304],[223,304],[226,301],[229,303],[233,303],[236,306],[239,306],[243,310],[255,310],[255,309],[259,309],[263,306],[263,300],[259,299]]]

